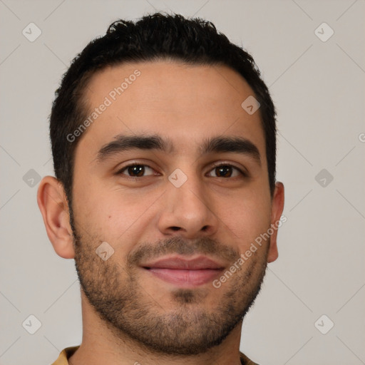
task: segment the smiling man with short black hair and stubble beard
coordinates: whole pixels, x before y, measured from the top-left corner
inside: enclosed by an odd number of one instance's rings
[[[242,320],[277,259],[275,111],[201,19],[116,21],[73,60],[38,205],[75,259],[83,339],[54,364],[255,364]]]

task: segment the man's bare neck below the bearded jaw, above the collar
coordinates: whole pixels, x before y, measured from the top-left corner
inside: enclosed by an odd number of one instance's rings
[[[240,365],[242,322],[222,341],[222,344],[197,355],[156,353],[130,339],[126,334],[112,331],[88,303],[81,290],[83,340],[68,360],[70,365]]]

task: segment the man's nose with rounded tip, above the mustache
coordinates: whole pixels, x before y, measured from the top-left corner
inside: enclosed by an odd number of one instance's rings
[[[158,220],[164,235],[196,238],[214,235],[220,220],[209,190],[198,178],[188,178],[180,187],[168,183],[165,205]]]

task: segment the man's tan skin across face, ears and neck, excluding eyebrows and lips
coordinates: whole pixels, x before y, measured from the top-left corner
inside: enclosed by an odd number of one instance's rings
[[[207,282],[184,291],[138,264],[173,252],[190,258],[203,253],[226,270],[279,220],[284,187],[276,183],[274,195],[270,195],[259,111],[249,115],[241,107],[254,93],[239,74],[225,66],[130,63],[93,76],[86,92],[90,110],[103,103],[110,90],[135,69],[141,75],[79,137],[73,180],[76,232],[71,229],[61,183],[46,176],[38,188],[38,205],[54,250],[61,257],[75,259],[81,286],[90,291],[86,295],[81,289],[83,341],[70,363],[238,365],[242,317],[255,299],[267,262],[277,259],[277,230],[219,289]],[[98,163],[98,150],[120,133],[170,138],[176,152],[130,150]],[[238,153],[200,155],[197,148],[202,140],[219,135],[250,140],[259,150],[261,164]],[[125,175],[115,175],[135,161],[150,167],[140,180],[128,180],[127,170]],[[213,165],[216,162],[246,170],[249,176],[232,169],[232,177],[220,177]],[[181,187],[168,180],[176,168],[187,176]],[[101,242],[108,242],[115,251],[107,261],[95,253]],[[133,262],[137,252],[140,261]],[[107,315],[114,316],[115,325],[124,323],[125,331],[113,327],[96,309],[103,307],[106,297],[123,303],[120,311]],[[118,305],[118,300],[113,304]],[[132,304],[147,311],[140,322],[133,317]],[[104,306],[106,312],[108,305]],[[210,322],[222,316],[225,320]],[[154,323],[156,317],[159,321]],[[127,328],[128,318],[135,327]],[[159,325],[161,319],[170,327],[160,327],[154,336],[155,327],[149,325]],[[222,335],[226,320],[235,324],[225,329],[219,344],[207,344],[203,350],[207,328],[210,335]],[[138,326],[145,328],[138,333]],[[148,333],[151,341],[167,341],[174,333],[171,328],[179,333],[181,344],[190,338],[201,345],[195,354],[187,354],[193,343],[163,354],[130,336],[130,331],[136,331],[140,336]]]

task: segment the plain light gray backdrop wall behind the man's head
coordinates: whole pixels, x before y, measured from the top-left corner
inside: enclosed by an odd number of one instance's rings
[[[112,21],[155,10],[213,21],[252,53],[277,106],[287,222],[242,351],[263,365],[365,364],[364,0],[0,0],[0,364],[50,364],[81,342],[74,263],[53,251],[36,204],[38,175],[53,175],[53,92]],[[30,314],[35,334],[22,326]]]

